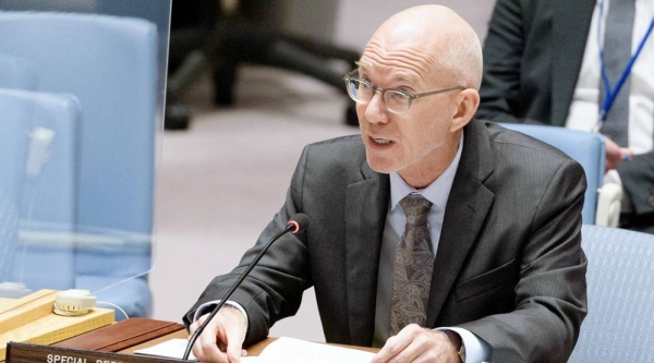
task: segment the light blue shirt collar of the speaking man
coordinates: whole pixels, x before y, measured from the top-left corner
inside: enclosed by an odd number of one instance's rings
[[[436,178],[427,187],[416,190],[411,185],[407,184],[407,182],[400,177],[397,171],[391,172],[390,176],[390,208],[393,209],[398,206],[400,201],[411,194],[417,193],[427,198],[434,206],[439,207],[445,210],[445,206],[447,205],[447,199],[449,197],[450,190],[452,189],[452,183],[455,181],[455,176],[457,173],[457,168],[459,167],[459,161],[461,160],[461,152],[463,150],[463,133],[461,133],[461,141],[459,143],[459,148],[457,149],[457,155],[452,159],[452,162],[445,169],[445,171]]]

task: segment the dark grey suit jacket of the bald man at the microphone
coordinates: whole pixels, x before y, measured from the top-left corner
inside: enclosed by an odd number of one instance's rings
[[[461,326],[494,362],[565,362],[586,312],[580,246],[585,179],[579,164],[533,138],[473,120],[446,206],[427,325]],[[278,240],[231,300],[249,313],[246,342],[293,315],[314,286],[326,340],[371,346],[388,174],[366,162],[360,135],[308,145],[287,201],[230,275],[198,304],[219,300],[295,213],[306,232]]]

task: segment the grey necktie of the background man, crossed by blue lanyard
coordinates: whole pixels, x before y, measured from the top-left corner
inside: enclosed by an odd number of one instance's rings
[[[611,0],[606,14],[604,33],[604,63],[610,87],[615,87],[631,58],[634,0]],[[606,113],[602,134],[621,147],[629,146],[629,92],[631,77],[627,77],[616,99]],[[605,84],[600,80],[600,105],[606,97]]]

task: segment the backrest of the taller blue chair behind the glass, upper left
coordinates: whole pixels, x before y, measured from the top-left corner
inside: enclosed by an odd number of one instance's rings
[[[80,98],[77,223],[152,233],[156,26],[141,19],[0,11],[0,53],[28,60],[37,90]]]

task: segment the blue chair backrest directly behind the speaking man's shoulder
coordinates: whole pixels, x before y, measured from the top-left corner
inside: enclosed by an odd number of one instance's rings
[[[598,134],[558,126],[523,123],[501,123],[501,125],[538,138],[581,164],[588,182],[581,213],[582,220],[586,225],[594,225],[597,210],[597,190],[604,183],[604,138]]]

